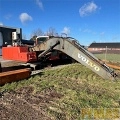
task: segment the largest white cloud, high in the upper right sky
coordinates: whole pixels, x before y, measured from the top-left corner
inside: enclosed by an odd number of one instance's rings
[[[81,17],[87,16],[95,12],[97,8],[98,6],[94,2],[88,2],[79,9],[80,16]]]

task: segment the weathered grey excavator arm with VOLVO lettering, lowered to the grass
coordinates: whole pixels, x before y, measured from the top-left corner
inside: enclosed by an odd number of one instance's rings
[[[40,58],[42,56],[45,56],[45,54],[47,54],[51,49],[58,50],[67,54],[104,79],[114,80],[117,77],[117,74],[111,68],[102,63],[93,54],[88,52],[73,38],[53,37],[41,43],[40,45],[35,46],[33,50],[44,50],[44,52],[38,56]]]

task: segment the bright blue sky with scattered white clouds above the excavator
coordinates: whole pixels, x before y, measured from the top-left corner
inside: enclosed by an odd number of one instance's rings
[[[67,33],[80,44],[120,42],[120,0],[0,0],[0,25],[27,38],[40,28]]]

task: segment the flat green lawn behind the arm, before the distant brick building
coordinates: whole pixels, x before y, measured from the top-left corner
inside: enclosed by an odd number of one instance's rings
[[[107,60],[111,62],[119,62],[120,63],[120,54],[94,54],[96,57]]]

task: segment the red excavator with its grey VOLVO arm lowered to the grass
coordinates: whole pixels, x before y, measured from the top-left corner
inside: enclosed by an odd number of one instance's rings
[[[17,45],[2,48],[3,59],[19,60],[25,63],[33,64],[45,60],[53,59],[59,56],[69,56],[75,61],[81,63],[103,79],[115,80],[117,74],[93,54],[81,46],[76,39],[71,37],[40,37],[32,46]],[[44,39],[43,39],[44,38]],[[54,56],[55,53],[56,56]],[[51,57],[54,56],[54,57]],[[68,57],[68,58],[69,58]]]

